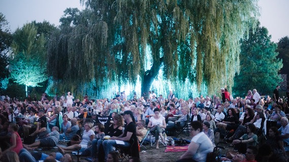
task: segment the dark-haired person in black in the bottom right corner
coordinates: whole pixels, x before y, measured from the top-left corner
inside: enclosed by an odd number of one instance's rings
[[[273,155],[269,158],[269,161],[286,161],[286,152],[283,141],[279,135],[276,127],[271,127],[269,129],[268,137],[265,140],[265,144],[269,145],[273,151]]]

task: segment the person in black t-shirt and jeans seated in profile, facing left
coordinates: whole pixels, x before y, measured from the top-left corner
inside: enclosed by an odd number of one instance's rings
[[[113,147],[117,145],[129,147],[131,156],[139,158],[138,142],[136,137],[136,125],[133,113],[132,111],[127,110],[122,115],[127,123],[124,133],[119,137],[113,136],[111,137],[111,140],[104,140],[102,142],[105,152],[105,159],[107,159],[107,155],[110,151],[113,150]]]

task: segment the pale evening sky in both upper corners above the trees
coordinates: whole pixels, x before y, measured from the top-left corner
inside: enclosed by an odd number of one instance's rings
[[[141,1],[141,0],[140,0]],[[289,0],[259,0],[261,7],[261,26],[265,26],[271,41],[277,43],[280,38],[289,36]],[[49,21],[51,24],[60,25],[59,19],[66,8],[82,10],[79,0],[2,0],[0,12],[9,22],[12,32],[23,24],[36,20]]]

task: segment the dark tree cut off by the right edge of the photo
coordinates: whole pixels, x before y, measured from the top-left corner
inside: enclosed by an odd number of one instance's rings
[[[280,70],[281,74],[287,74],[287,80],[289,78],[289,37],[285,36],[280,39],[278,42],[278,49],[277,52],[279,53],[278,58],[282,59],[283,67]]]

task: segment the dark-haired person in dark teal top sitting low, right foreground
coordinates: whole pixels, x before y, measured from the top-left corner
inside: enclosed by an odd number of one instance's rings
[[[247,134],[244,134],[239,139],[233,141],[233,144],[235,144],[234,149],[241,153],[246,153],[246,149],[249,145],[256,146],[258,137],[254,134],[255,131],[255,125],[249,124],[247,127]]]

